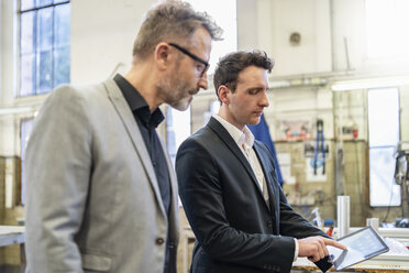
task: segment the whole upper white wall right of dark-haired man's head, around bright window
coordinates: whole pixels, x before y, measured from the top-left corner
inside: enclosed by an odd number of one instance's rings
[[[239,0],[237,11],[239,48],[267,52],[276,61],[276,77],[409,70],[409,57],[367,57],[365,0]],[[291,32],[301,34],[300,45],[290,45]]]

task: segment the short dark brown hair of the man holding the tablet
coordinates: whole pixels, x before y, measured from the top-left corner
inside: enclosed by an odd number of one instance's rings
[[[233,92],[235,91],[239,74],[248,66],[262,67],[270,73],[274,61],[262,51],[229,53],[219,61],[214,70],[213,84],[218,98],[218,90],[221,85],[226,85]]]

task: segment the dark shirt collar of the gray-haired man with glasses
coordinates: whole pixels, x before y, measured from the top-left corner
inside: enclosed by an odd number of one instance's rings
[[[159,108],[151,113],[150,106],[146,100],[141,96],[141,94],[134,88],[124,77],[117,74],[113,80],[117,83],[125,98],[128,105],[130,106],[132,112],[137,116],[137,118],[148,127],[157,127],[164,119]]]

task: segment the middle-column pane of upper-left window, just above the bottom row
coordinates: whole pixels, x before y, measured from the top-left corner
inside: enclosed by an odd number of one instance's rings
[[[53,8],[38,10],[38,47],[49,51],[53,46]]]

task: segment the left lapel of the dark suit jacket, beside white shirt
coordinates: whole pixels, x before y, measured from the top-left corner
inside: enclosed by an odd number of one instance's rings
[[[243,152],[237,146],[237,143],[234,142],[233,138],[230,135],[228,130],[225,130],[224,127],[222,124],[220,124],[220,122],[217,121],[214,118],[211,118],[209,120],[208,127],[210,127],[210,129],[219,135],[219,138],[225,143],[225,145],[230,149],[230,151],[232,151],[232,153],[235,155],[235,157],[237,157],[239,162],[244,166],[244,168],[248,173],[253,183],[257,187],[261,197],[264,200],[263,189],[259,188],[257,178],[254,175],[252,166],[250,165],[247,159],[244,156]],[[267,204],[266,204],[266,207],[267,207]],[[267,207],[267,209],[268,209],[268,207]]]

